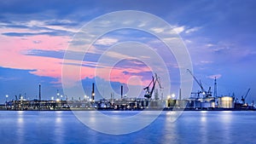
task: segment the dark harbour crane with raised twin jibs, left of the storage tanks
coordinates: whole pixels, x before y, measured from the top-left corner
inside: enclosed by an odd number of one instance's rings
[[[160,89],[163,89],[161,87],[160,84],[160,78],[157,76],[156,73],[154,73],[154,76],[152,76],[152,81],[148,84],[148,86],[146,88],[144,88],[143,90],[146,90],[146,94],[144,95],[144,97],[150,99],[152,97],[154,88],[155,88],[155,84],[158,83],[160,86]],[[153,84],[152,88],[150,89],[150,85]]]

